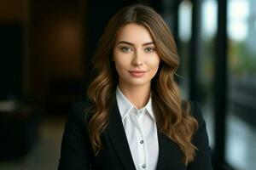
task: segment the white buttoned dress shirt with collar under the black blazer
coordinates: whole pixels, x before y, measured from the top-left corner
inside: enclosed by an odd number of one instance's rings
[[[159,146],[151,98],[146,106],[137,109],[117,87],[116,99],[135,167],[155,170]]]

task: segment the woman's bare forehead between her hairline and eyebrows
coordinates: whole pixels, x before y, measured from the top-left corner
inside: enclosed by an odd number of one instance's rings
[[[147,27],[131,23],[119,29],[116,37],[116,42],[119,41],[145,43],[153,42],[153,38]]]

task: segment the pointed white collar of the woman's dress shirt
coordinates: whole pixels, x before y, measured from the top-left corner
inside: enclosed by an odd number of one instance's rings
[[[121,92],[121,90],[119,89],[119,87],[117,87],[116,89],[116,99],[117,99],[117,104],[119,106],[119,113],[122,117],[122,121],[125,119],[126,116],[129,115],[130,111],[132,109],[136,109],[137,107],[135,105],[132,105],[131,102],[129,101],[129,99],[127,99],[125,97],[125,95]],[[147,105],[145,105],[142,109],[145,109],[145,112],[148,113],[148,115],[153,119],[153,121],[155,122],[155,118],[154,118],[154,111],[153,111],[153,107],[152,107],[152,100],[151,100],[151,96],[148,99],[148,103]]]

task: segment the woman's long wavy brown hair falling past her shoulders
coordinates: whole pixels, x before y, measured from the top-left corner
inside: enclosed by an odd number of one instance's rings
[[[96,77],[87,89],[90,112],[88,123],[90,141],[96,154],[102,150],[101,133],[108,126],[110,101],[115,97],[118,74],[112,61],[113,47],[118,31],[129,23],[144,26],[151,33],[156,51],[160,56],[160,67],[151,80],[151,96],[154,115],[159,131],[172,139],[183,151],[183,162],[195,159],[196,147],[191,143],[198,123],[190,116],[189,102],[181,100],[175,75],[179,66],[177,47],[172,32],[154,9],[141,4],[119,10],[108,22],[99,40],[92,60]]]

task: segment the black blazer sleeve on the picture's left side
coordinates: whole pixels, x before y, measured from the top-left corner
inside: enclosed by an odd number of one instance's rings
[[[73,105],[61,142],[59,170],[89,170],[90,144],[82,104]]]

